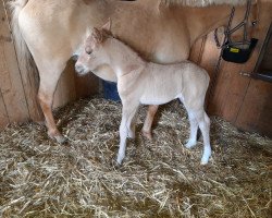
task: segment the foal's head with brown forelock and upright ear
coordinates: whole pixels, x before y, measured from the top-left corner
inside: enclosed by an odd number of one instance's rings
[[[109,63],[103,45],[111,36],[110,26],[109,21],[101,28],[94,28],[92,33],[87,37],[83,51],[75,63],[75,70],[78,74],[84,75]]]

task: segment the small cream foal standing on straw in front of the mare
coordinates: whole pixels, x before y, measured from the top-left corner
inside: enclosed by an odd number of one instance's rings
[[[123,105],[118,164],[121,165],[125,157],[127,136],[135,137],[135,117],[139,105],[162,105],[178,98],[188,112],[190,123],[186,147],[196,145],[199,128],[203,135],[201,165],[206,165],[211,156],[210,119],[205,112],[209,74],[189,61],[165,65],[146,62],[128,46],[110,34],[107,36],[109,31],[110,22],[101,31],[95,28],[75,66],[78,73],[86,73],[108,64],[118,77]]]

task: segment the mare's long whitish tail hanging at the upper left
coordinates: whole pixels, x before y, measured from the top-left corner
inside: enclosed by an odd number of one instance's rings
[[[32,55],[27,48],[27,45],[22,36],[20,25],[18,25],[18,15],[24,7],[27,4],[28,0],[10,0],[8,5],[11,10],[11,28],[12,37],[15,43],[16,52],[21,68],[26,68],[29,70],[36,71],[36,65],[33,61]]]

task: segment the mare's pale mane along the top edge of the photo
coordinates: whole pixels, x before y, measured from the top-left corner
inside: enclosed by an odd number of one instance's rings
[[[165,5],[186,5],[186,7],[209,7],[219,4],[242,5],[247,0],[161,0]]]

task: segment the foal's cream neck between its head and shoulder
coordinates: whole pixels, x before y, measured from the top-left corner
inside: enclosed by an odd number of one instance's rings
[[[109,38],[106,41],[104,48],[109,56],[110,65],[118,77],[143,69],[146,65],[146,62],[138,53],[115,38]]]

